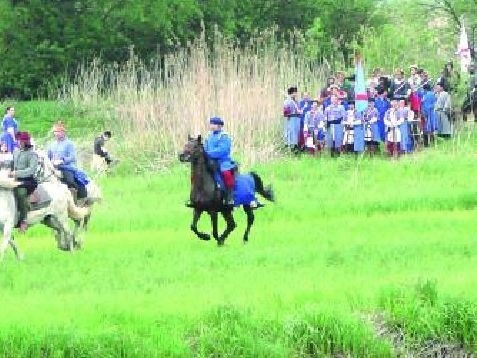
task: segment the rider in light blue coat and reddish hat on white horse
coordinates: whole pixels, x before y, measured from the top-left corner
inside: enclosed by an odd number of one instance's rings
[[[76,150],[73,142],[66,136],[66,127],[62,121],[53,126],[55,140],[48,146],[48,158],[53,166],[61,171],[62,181],[76,190],[78,202],[84,201],[88,193],[86,184],[76,178],[79,170],[76,168]]]

